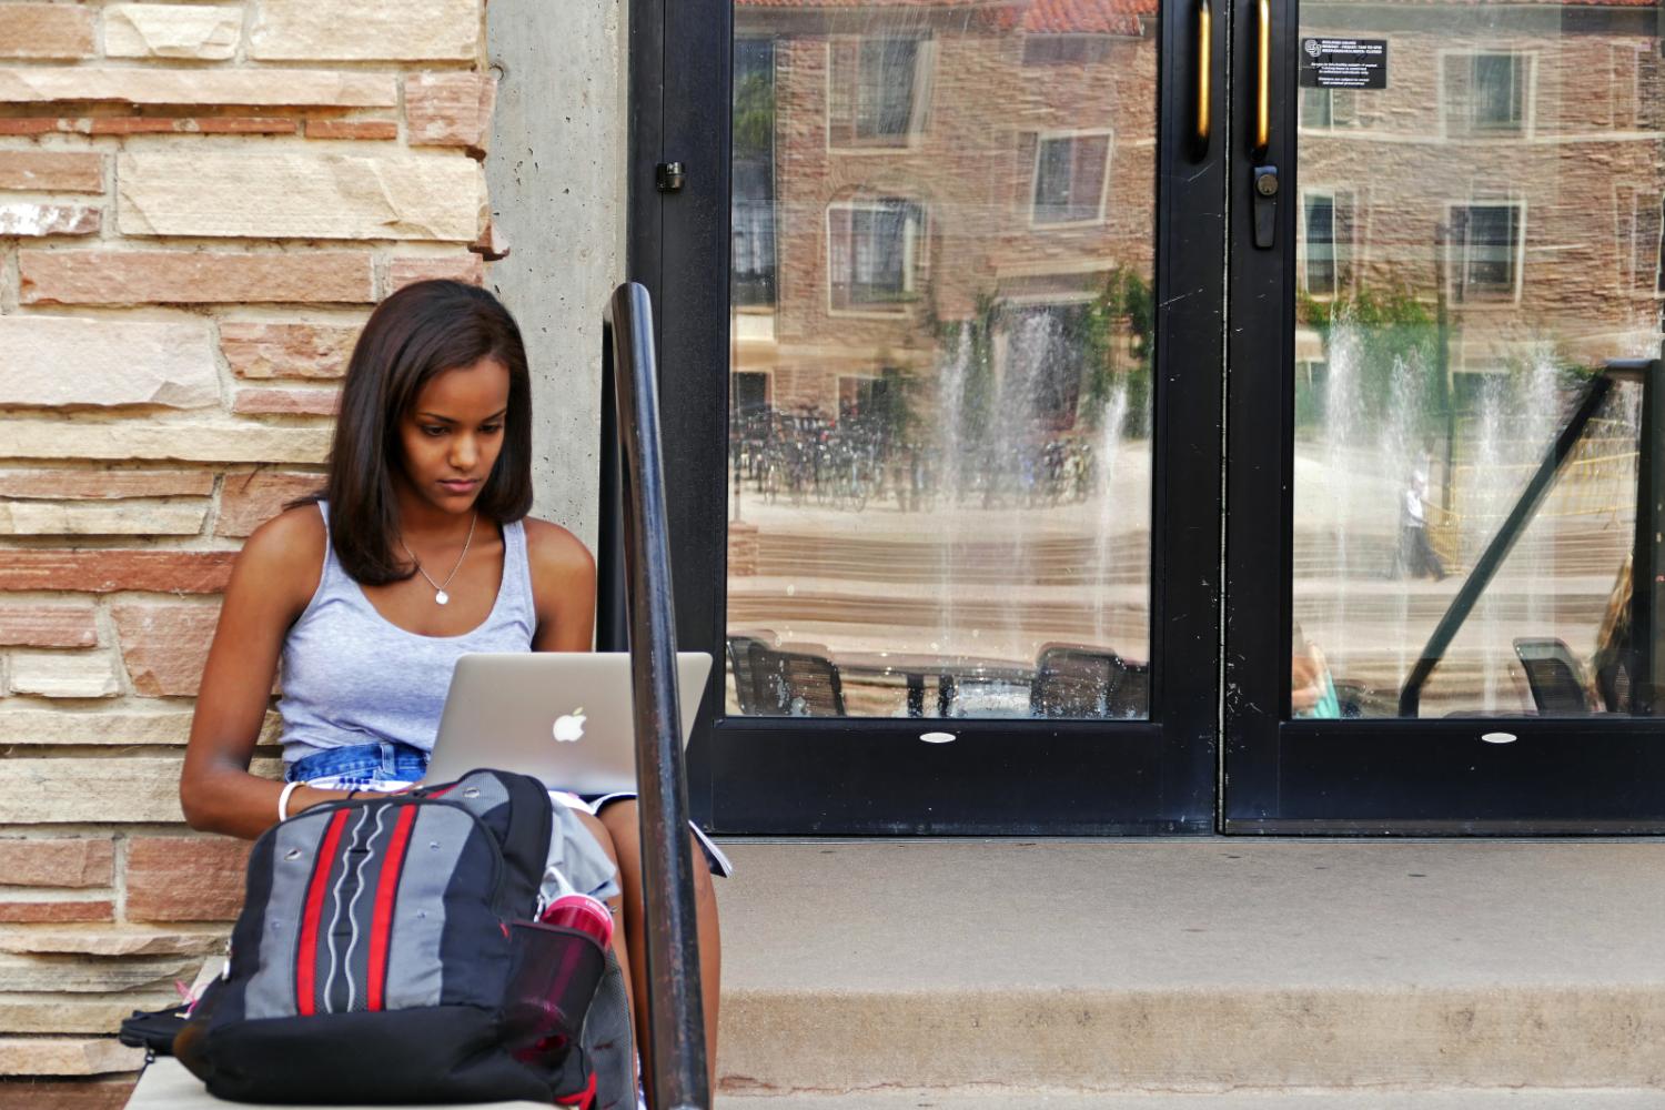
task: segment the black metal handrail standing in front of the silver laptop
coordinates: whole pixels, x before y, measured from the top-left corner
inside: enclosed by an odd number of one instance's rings
[[[621,285],[601,323],[608,394],[616,419],[604,421],[603,518],[618,506],[623,543],[603,541],[603,557],[623,549],[623,574],[603,589],[601,629],[628,634],[636,714],[636,779],[641,790],[641,885],[646,912],[648,1028],[654,1110],[708,1110],[706,1033],[701,1012],[698,914],[688,842],[688,779],[676,704],[676,622],[671,607],[671,548],[659,458],[659,391],[648,290]],[[606,388],[606,386],[611,386]],[[618,484],[609,474],[618,466]],[[606,576],[604,576],[606,577]],[[619,597],[623,594],[623,597]],[[619,606],[619,602],[623,602]],[[623,607],[623,612],[619,612]],[[619,627],[623,626],[623,627]]]

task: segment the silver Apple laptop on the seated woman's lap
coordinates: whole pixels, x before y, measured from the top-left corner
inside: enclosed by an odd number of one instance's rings
[[[694,727],[711,656],[676,656],[683,746]],[[629,652],[471,654],[456,661],[428,782],[476,767],[543,779],[574,794],[636,789]]]

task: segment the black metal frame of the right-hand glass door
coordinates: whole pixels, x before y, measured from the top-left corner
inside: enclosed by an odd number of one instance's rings
[[[1252,221],[1230,230],[1230,384],[1225,473],[1225,702],[1222,830],[1242,834],[1558,835],[1665,832],[1665,726],[1657,719],[1445,717],[1290,721],[1294,519],[1294,236],[1299,5],[1270,0],[1272,141],[1280,170],[1279,250],[1257,250]],[[1234,13],[1252,43],[1255,0]],[[1254,90],[1250,50],[1230,60]],[[1235,116],[1247,121],[1249,95]],[[1230,203],[1252,211],[1242,126]],[[1267,311],[1277,306],[1277,311]],[[1272,388],[1275,386],[1275,388]],[[1662,393],[1655,389],[1653,408]],[[1665,428],[1660,414],[1652,428]],[[1645,424],[1647,428],[1648,424]],[[1657,433],[1655,433],[1657,441]],[[1655,499],[1665,489],[1655,491]],[[1645,509],[1643,509],[1645,511]],[[1655,506],[1655,519],[1665,519]],[[1642,561],[1638,559],[1638,566]],[[1485,732],[1518,739],[1489,744]]]

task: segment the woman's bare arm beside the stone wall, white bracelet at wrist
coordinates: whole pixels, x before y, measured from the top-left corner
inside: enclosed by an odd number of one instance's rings
[[[250,774],[248,762],[283,637],[318,589],[325,543],[318,509],[301,506],[263,524],[236,557],[180,772],[180,805],[193,829],[253,839],[278,822],[283,784]],[[290,812],[338,797],[346,792],[303,785],[290,794]]]

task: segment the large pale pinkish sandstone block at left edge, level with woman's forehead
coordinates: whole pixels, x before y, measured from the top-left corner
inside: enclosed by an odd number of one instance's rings
[[[205,320],[0,316],[0,404],[218,403]]]

